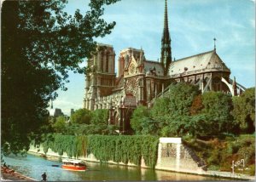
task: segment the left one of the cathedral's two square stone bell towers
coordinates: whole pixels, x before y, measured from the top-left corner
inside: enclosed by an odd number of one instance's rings
[[[85,109],[102,109],[99,100],[112,94],[115,82],[114,57],[112,45],[97,43],[96,53],[88,60],[90,72],[86,75],[85,82]]]

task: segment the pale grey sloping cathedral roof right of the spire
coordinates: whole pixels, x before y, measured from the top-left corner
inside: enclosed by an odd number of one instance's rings
[[[219,58],[215,50],[196,54],[172,61],[170,66],[170,76],[176,77],[179,74],[195,74],[201,71],[229,71],[230,69]]]

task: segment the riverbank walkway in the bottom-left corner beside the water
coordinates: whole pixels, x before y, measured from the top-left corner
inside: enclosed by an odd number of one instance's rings
[[[17,173],[14,169],[1,167],[1,181],[36,181],[36,179]]]

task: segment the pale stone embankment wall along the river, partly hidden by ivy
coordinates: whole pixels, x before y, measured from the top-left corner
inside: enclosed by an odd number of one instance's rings
[[[68,158],[66,152],[64,152],[62,156],[59,156],[58,153],[55,153],[51,149],[49,149],[48,152],[44,154],[43,146],[39,146],[38,148],[31,146],[29,151],[32,154],[39,156],[47,156],[47,158]],[[89,162],[100,162],[93,154],[79,157],[79,159]],[[136,166],[131,162],[125,164],[108,161],[108,163]],[[157,163],[155,166],[155,169],[157,170],[172,171],[177,173],[192,173],[197,175],[207,175],[221,178],[224,177],[229,179],[254,179],[253,176],[240,173],[207,171],[206,167],[206,163],[202,161],[201,158],[196,156],[195,153],[189,149],[189,147],[183,145],[181,138],[160,138]],[[141,162],[141,168],[148,168],[148,166],[145,165],[143,159]]]

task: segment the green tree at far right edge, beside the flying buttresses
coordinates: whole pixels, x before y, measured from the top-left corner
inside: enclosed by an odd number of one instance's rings
[[[255,88],[248,88],[241,96],[233,97],[232,116],[243,134],[255,132]]]

